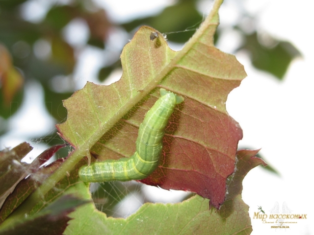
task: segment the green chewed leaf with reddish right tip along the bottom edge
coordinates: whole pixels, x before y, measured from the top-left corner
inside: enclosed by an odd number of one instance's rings
[[[74,219],[64,234],[250,234],[249,207],[241,197],[242,180],[255,166],[266,165],[255,157],[258,151],[238,151],[236,171],[228,178],[227,199],[219,211],[209,209],[209,200],[199,195],[182,203],[145,203],[126,219],[107,217],[90,203],[70,214]],[[90,198],[88,188],[80,189],[77,192],[83,198]],[[86,226],[90,224],[95,226]]]

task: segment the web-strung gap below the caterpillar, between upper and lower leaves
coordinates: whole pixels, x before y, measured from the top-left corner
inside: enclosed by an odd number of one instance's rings
[[[136,181],[110,181],[91,183],[90,191],[97,210],[107,216],[126,218],[144,203],[177,203],[193,193],[180,190],[164,190]]]

